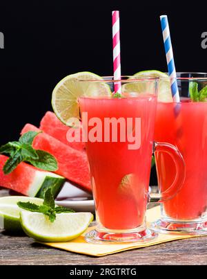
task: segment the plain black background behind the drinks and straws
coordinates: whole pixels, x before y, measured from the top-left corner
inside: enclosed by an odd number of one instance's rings
[[[168,15],[177,71],[206,72],[201,1],[2,1],[0,144],[39,125],[52,89],[77,71],[112,74],[111,11],[120,10],[121,71],[167,71],[159,15]]]

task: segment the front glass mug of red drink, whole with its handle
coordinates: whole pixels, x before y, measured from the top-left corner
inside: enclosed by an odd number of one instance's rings
[[[159,201],[173,197],[185,177],[184,161],[177,147],[153,144],[157,79],[128,78],[79,80],[81,88],[86,82],[86,95],[93,95],[79,98],[97,218],[95,230],[86,234],[88,242],[155,238],[157,233],[146,228],[149,196]],[[99,96],[96,92],[109,89],[113,92],[117,84],[121,85],[122,98]],[[153,147],[155,153],[168,153],[176,169],[172,185],[158,196],[148,190]]]

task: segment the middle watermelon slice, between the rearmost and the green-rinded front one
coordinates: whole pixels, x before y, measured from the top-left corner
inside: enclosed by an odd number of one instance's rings
[[[28,131],[39,132],[40,129],[31,124],[26,124],[21,134]],[[91,191],[86,152],[75,150],[45,132],[34,138],[33,147],[35,149],[45,150],[55,156],[59,167],[56,171],[57,174]]]

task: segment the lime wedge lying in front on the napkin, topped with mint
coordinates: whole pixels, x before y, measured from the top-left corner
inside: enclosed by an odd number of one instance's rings
[[[78,237],[90,222],[92,213],[60,213],[51,223],[48,216],[23,210],[20,213],[23,231],[41,242],[67,242]]]

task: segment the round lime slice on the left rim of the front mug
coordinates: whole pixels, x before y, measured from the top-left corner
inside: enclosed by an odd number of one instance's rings
[[[97,82],[89,80],[97,80]],[[111,95],[108,84],[99,80],[103,78],[95,73],[80,72],[66,76],[56,85],[52,92],[52,108],[62,123],[73,126],[71,118],[79,119],[79,97]]]

